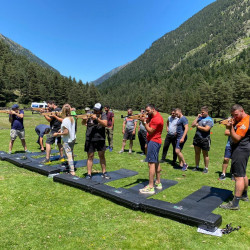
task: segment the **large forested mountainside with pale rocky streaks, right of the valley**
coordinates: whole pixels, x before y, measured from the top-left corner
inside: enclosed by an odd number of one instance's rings
[[[240,103],[250,112],[249,17],[250,0],[217,0],[99,85],[104,102],[186,115],[208,105],[213,116]]]

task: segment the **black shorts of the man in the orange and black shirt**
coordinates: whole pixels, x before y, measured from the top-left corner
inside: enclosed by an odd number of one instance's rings
[[[246,176],[249,154],[249,149],[243,150],[236,148],[232,151],[231,174],[235,177]]]

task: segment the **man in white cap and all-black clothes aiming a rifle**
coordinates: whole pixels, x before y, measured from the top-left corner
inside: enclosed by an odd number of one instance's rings
[[[102,177],[110,179],[110,176],[106,172],[106,159],[105,159],[105,127],[107,127],[107,116],[105,112],[102,112],[102,105],[96,103],[93,110],[94,114],[87,120],[85,152],[88,154],[86,179],[92,178],[92,166],[95,151],[98,152],[100,164],[102,167]]]

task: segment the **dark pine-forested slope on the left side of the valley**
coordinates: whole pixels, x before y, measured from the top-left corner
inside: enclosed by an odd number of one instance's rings
[[[69,102],[76,108],[93,106],[100,94],[93,84],[67,78],[25,56],[17,55],[0,40],[0,106],[7,102],[29,104],[55,100],[59,105]]]

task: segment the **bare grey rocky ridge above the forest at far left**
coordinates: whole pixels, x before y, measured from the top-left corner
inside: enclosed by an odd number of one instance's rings
[[[51,67],[49,64],[47,64],[43,60],[41,60],[39,57],[35,56],[31,51],[25,49],[24,47],[22,47],[18,43],[12,41],[11,39],[5,37],[2,34],[0,34],[0,40],[2,40],[4,43],[6,43],[7,45],[9,45],[10,49],[15,54],[17,54],[17,55],[23,55],[23,56],[27,57],[27,59],[30,60],[31,62],[35,62],[35,63],[39,64],[42,67],[48,68],[48,69],[50,69],[50,70],[52,70],[54,72],[58,72],[56,69],[54,69],[53,67]]]

